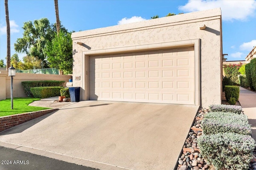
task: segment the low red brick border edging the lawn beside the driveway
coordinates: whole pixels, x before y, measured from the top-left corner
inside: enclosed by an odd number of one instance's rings
[[[0,132],[57,110],[58,109],[47,109],[43,111],[35,111],[18,115],[0,117]]]

